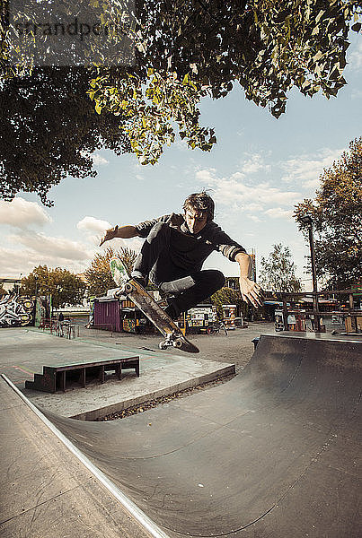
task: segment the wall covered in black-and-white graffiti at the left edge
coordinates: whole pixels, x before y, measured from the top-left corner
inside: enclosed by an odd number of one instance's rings
[[[0,328],[33,324],[35,297],[3,295],[0,298]]]

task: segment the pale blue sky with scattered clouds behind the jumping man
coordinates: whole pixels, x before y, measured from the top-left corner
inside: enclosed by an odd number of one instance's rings
[[[362,39],[352,33],[351,40],[348,85],[337,98],[292,91],[286,114],[276,119],[235,86],[225,99],[200,104],[200,124],[216,131],[211,152],[192,151],[179,137],[155,166],[138,164],[136,155],[99,151],[93,154],[96,178],[66,178],[52,187],[54,207],[31,193],[0,201],[0,277],[20,278],[38,265],[82,273],[108,245],[138,251],[139,238],[98,247],[103,230],[181,213],[188,195],[210,189],[215,221],[248,252],[255,251],[257,274],[261,257],[282,243],[309,291],[309,247],[292,214],[295,204],[315,196],[323,169],[362,134]],[[209,256],[204,268],[238,274],[238,265],[220,253]]]

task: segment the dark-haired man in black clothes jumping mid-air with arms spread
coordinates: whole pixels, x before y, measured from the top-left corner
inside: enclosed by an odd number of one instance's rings
[[[106,230],[102,245],[110,239],[145,238],[132,272],[132,278],[146,287],[148,279],[161,291],[174,294],[165,309],[172,319],[189,310],[223,287],[220,271],[202,270],[207,256],[218,250],[240,267],[240,291],[243,300],[254,307],[261,305],[261,290],[249,276],[252,258],[245,249],[225,234],[213,221],[215,204],[206,192],[190,195],[183,204],[184,213],[163,215],[136,226],[118,225]]]

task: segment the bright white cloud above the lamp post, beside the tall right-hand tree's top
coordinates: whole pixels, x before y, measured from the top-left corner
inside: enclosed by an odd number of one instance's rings
[[[312,155],[298,155],[281,162],[281,168],[286,171],[282,180],[286,183],[297,183],[306,188],[318,188],[323,169],[330,168],[333,161],[339,160],[343,151],[344,149],[323,148]]]

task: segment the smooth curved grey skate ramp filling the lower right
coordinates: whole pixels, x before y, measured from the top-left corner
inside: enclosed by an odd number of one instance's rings
[[[121,421],[47,416],[172,538],[357,538],[361,349],[261,336],[224,385]]]

